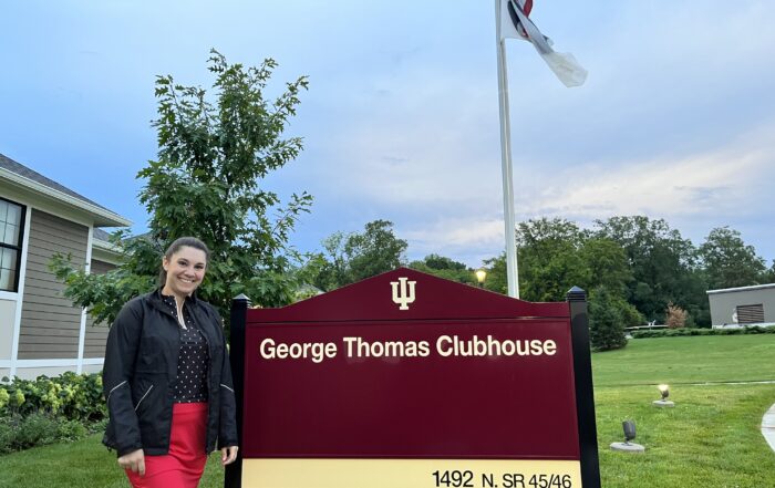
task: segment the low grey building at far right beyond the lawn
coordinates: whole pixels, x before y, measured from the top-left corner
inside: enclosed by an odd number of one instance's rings
[[[714,328],[775,325],[775,283],[709,290],[707,299]]]

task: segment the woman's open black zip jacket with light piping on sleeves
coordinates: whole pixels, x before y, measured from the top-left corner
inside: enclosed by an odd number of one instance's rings
[[[186,299],[186,307],[208,345],[207,436],[202,449],[210,453],[216,444],[237,445],[231,367],[218,312],[195,297]],[[157,290],[127,302],[107,334],[102,384],[110,419],[102,442],[118,456],[136,449],[164,455],[169,449],[178,329]]]

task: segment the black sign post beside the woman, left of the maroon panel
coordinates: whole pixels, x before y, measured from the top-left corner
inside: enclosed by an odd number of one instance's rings
[[[245,392],[245,324],[250,299],[239,294],[231,300],[231,335],[229,339],[229,362],[237,401],[237,438],[242,447],[242,392]],[[224,488],[242,486],[242,450],[237,451],[237,460],[226,467]]]

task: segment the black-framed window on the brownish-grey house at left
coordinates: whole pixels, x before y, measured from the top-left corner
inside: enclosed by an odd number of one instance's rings
[[[0,198],[0,291],[18,291],[24,207]]]

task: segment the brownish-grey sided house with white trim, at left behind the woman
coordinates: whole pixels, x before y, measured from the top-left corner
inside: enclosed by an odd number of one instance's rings
[[[102,368],[107,328],[62,295],[49,262],[105,272],[118,253],[100,228],[131,224],[0,154],[0,377]]]

